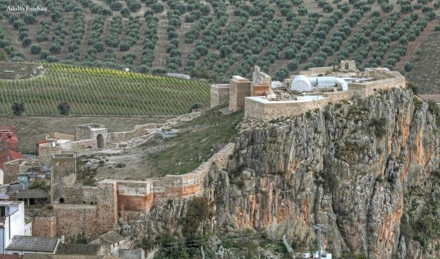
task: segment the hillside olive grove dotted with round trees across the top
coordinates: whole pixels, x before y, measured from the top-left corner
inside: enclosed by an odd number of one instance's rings
[[[1,13],[11,59],[128,66],[225,81],[259,65],[281,80],[355,59],[400,68],[438,24],[440,0],[0,0],[48,11]]]

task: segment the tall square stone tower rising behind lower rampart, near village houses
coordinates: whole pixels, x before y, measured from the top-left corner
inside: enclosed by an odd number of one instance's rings
[[[72,203],[82,195],[76,187],[76,155],[52,155],[51,161],[51,204]]]

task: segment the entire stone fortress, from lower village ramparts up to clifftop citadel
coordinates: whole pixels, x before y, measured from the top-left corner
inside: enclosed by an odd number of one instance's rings
[[[360,72],[353,61],[339,67],[309,68],[283,83],[273,82],[256,66],[252,81],[233,76],[229,84],[211,85],[211,107],[227,106],[231,111],[244,109],[245,119],[270,121],[324,107],[329,102],[369,96],[381,90],[405,88],[405,77],[387,68],[366,68]],[[5,164],[7,179],[17,179],[32,168],[49,175],[51,215],[35,217],[34,236],[74,236],[93,239],[118,228],[118,223],[133,222],[148,215],[155,205],[169,199],[202,196],[207,173],[212,167],[226,169],[236,148],[228,143],[219,152],[187,174],[166,175],[144,181],[105,179],[96,186],[84,186],[77,180],[77,153],[88,149],[118,148],[121,143],[135,144],[142,136],[152,138],[164,126],[195,118],[200,112],[185,114],[163,125],[145,124],[133,131],[109,133],[104,125],[83,124],[75,135],[51,133],[36,138],[38,157],[16,159]],[[35,176],[39,177],[39,176]],[[47,176],[46,176],[47,177]]]

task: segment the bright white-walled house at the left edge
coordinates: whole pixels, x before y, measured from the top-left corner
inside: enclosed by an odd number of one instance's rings
[[[13,236],[25,235],[25,205],[23,201],[0,201],[0,253],[11,243]]]

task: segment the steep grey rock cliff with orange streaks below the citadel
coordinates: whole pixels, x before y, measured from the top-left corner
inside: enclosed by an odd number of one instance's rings
[[[253,122],[205,195],[218,231],[250,227],[336,256],[440,256],[439,127],[409,90]]]

